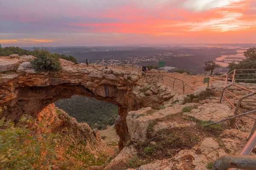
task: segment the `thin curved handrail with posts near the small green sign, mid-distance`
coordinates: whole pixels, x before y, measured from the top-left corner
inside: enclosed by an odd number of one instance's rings
[[[157,73],[155,73],[155,74],[152,73],[152,74],[148,74],[148,75],[150,75],[150,76],[152,76],[152,75],[153,76],[154,75],[158,76],[158,82],[159,82],[159,77],[161,77],[162,80],[163,80],[163,83],[166,82],[166,83],[171,84],[172,85],[172,89],[175,89],[175,87],[179,88],[182,91],[182,94],[184,94],[184,93],[188,93],[189,94],[189,93],[192,93],[193,91],[195,91],[194,88],[192,88],[188,83],[184,82],[182,79],[177,79],[175,77],[171,77],[171,76],[167,76],[167,75],[163,75],[163,74],[157,74]],[[164,77],[169,77],[169,78],[172,78],[174,80],[173,81],[171,79],[165,79],[164,80]],[[182,81],[182,84],[175,82],[176,80]],[[191,89],[187,88],[186,85],[188,85],[189,88],[191,88]]]

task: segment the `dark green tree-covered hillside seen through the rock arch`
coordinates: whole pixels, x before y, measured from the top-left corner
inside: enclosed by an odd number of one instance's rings
[[[92,128],[102,129],[106,125],[114,125],[118,116],[116,105],[85,96],[74,95],[70,99],[58,100],[55,105]]]

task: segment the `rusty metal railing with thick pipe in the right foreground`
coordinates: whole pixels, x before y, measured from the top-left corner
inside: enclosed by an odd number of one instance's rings
[[[240,106],[241,106],[241,102],[256,102],[255,100],[251,100],[251,101],[244,100],[244,99],[246,99],[250,96],[255,95],[256,91],[252,91],[252,90],[249,90],[247,88],[241,87],[242,85],[236,85],[235,84],[236,80],[239,80],[239,81],[244,81],[244,80],[246,80],[246,81],[255,81],[256,79],[237,79],[236,75],[253,75],[254,74],[254,73],[253,74],[251,74],[251,73],[236,74],[237,71],[256,71],[256,69],[240,69],[240,70],[236,69],[236,70],[233,70],[233,71],[231,71],[230,73],[227,74],[226,81],[225,81],[225,86],[224,86],[222,94],[221,94],[220,102],[223,103],[223,99],[226,99],[230,103],[230,105],[232,105],[232,107],[235,108],[235,111],[234,111],[235,116],[227,118],[227,119],[223,119],[223,120],[218,121],[218,122],[211,123],[209,125],[224,122],[224,121],[227,121],[227,120],[233,120],[233,121],[230,121],[230,124],[232,126],[234,126],[234,125],[236,125],[236,122],[235,122],[236,117],[248,116],[248,114],[256,113],[256,110],[248,111],[246,113],[242,113],[242,111],[239,111]],[[233,75],[231,75],[232,73],[233,73]],[[232,76],[232,79],[229,79],[230,76]],[[229,80],[232,80],[230,85],[228,85],[228,83],[227,83]],[[236,94],[233,94],[231,91],[228,90],[228,88],[230,88],[232,86],[235,86],[237,88],[241,88],[242,90],[248,91],[248,92],[250,92],[250,94],[239,97]],[[247,85],[243,85],[243,86],[247,87]],[[250,86],[256,86],[256,85],[250,85]],[[225,92],[227,92],[228,94],[231,94],[232,96],[234,96],[235,98],[238,99],[238,102],[237,102],[236,106],[233,105],[232,102],[230,102],[230,100],[227,98],[227,96],[225,96]],[[238,112],[241,113],[241,114],[239,114]],[[248,117],[250,117],[252,119],[255,119],[252,116],[248,116]],[[209,126],[209,125],[205,125],[205,126]],[[236,125],[236,127],[239,129],[239,127],[237,125]],[[232,168],[232,170],[239,170],[239,169],[256,170],[256,156],[250,156],[250,154],[252,153],[255,145],[256,145],[256,122],[253,125],[253,128],[251,130],[248,142],[245,144],[243,150],[241,150],[239,155],[229,155],[229,156],[219,157],[215,161],[215,163],[212,167],[212,170],[228,170],[230,168]]]

